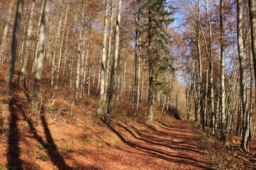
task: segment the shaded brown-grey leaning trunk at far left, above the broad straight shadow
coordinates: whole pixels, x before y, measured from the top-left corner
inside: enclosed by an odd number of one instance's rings
[[[18,0],[17,9],[16,9],[16,17],[14,22],[14,33],[11,41],[11,61],[9,64],[9,72],[7,77],[7,86],[11,86],[11,81],[14,77],[14,67],[16,62],[16,53],[18,47],[18,30],[21,24],[21,13],[23,9],[23,0]]]

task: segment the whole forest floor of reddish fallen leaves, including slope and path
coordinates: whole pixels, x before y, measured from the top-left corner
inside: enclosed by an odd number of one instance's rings
[[[241,154],[239,139],[230,137],[232,147],[223,147],[191,122],[164,113],[154,123],[135,120],[125,102],[105,125],[93,116],[96,99],[74,106],[63,91],[54,102],[42,97],[38,112],[24,89],[13,86],[6,94],[3,76],[0,71],[0,170],[256,169],[255,142],[252,154]]]

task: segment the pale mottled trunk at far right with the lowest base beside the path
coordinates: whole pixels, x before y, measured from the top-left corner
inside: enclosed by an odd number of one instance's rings
[[[245,68],[245,53],[243,48],[242,38],[242,0],[237,0],[238,10],[238,53],[240,63],[240,91],[242,96],[242,142],[241,148],[244,152],[249,152],[248,141],[250,135],[250,114],[247,101],[247,83],[246,83],[246,68]]]

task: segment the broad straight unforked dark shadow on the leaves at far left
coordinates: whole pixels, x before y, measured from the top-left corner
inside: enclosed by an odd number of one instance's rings
[[[18,130],[18,111],[21,106],[16,101],[16,96],[11,94],[9,100],[10,111],[10,123],[9,123],[9,135],[8,135],[8,152],[7,152],[7,166],[8,169],[22,169],[23,160],[19,158],[22,150],[18,147],[18,141],[20,140],[20,134]]]

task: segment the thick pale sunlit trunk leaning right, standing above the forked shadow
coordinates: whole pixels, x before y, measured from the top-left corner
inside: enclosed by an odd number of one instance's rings
[[[33,98],[32,106],[37,106],[37,98],[40,91],[41,84],[41,74],[43,68],[43,57],[45,50],[45,40],[46,40],[46,25],[48,22],[48,13],[50,9],[50,0],[46,0],[43,6],[43,15],[41,18],[40,30],[39,30],[39,40],[38,40],[38,57],[36,58],[36,67],[35,67],[35,80],[33,85]]]

